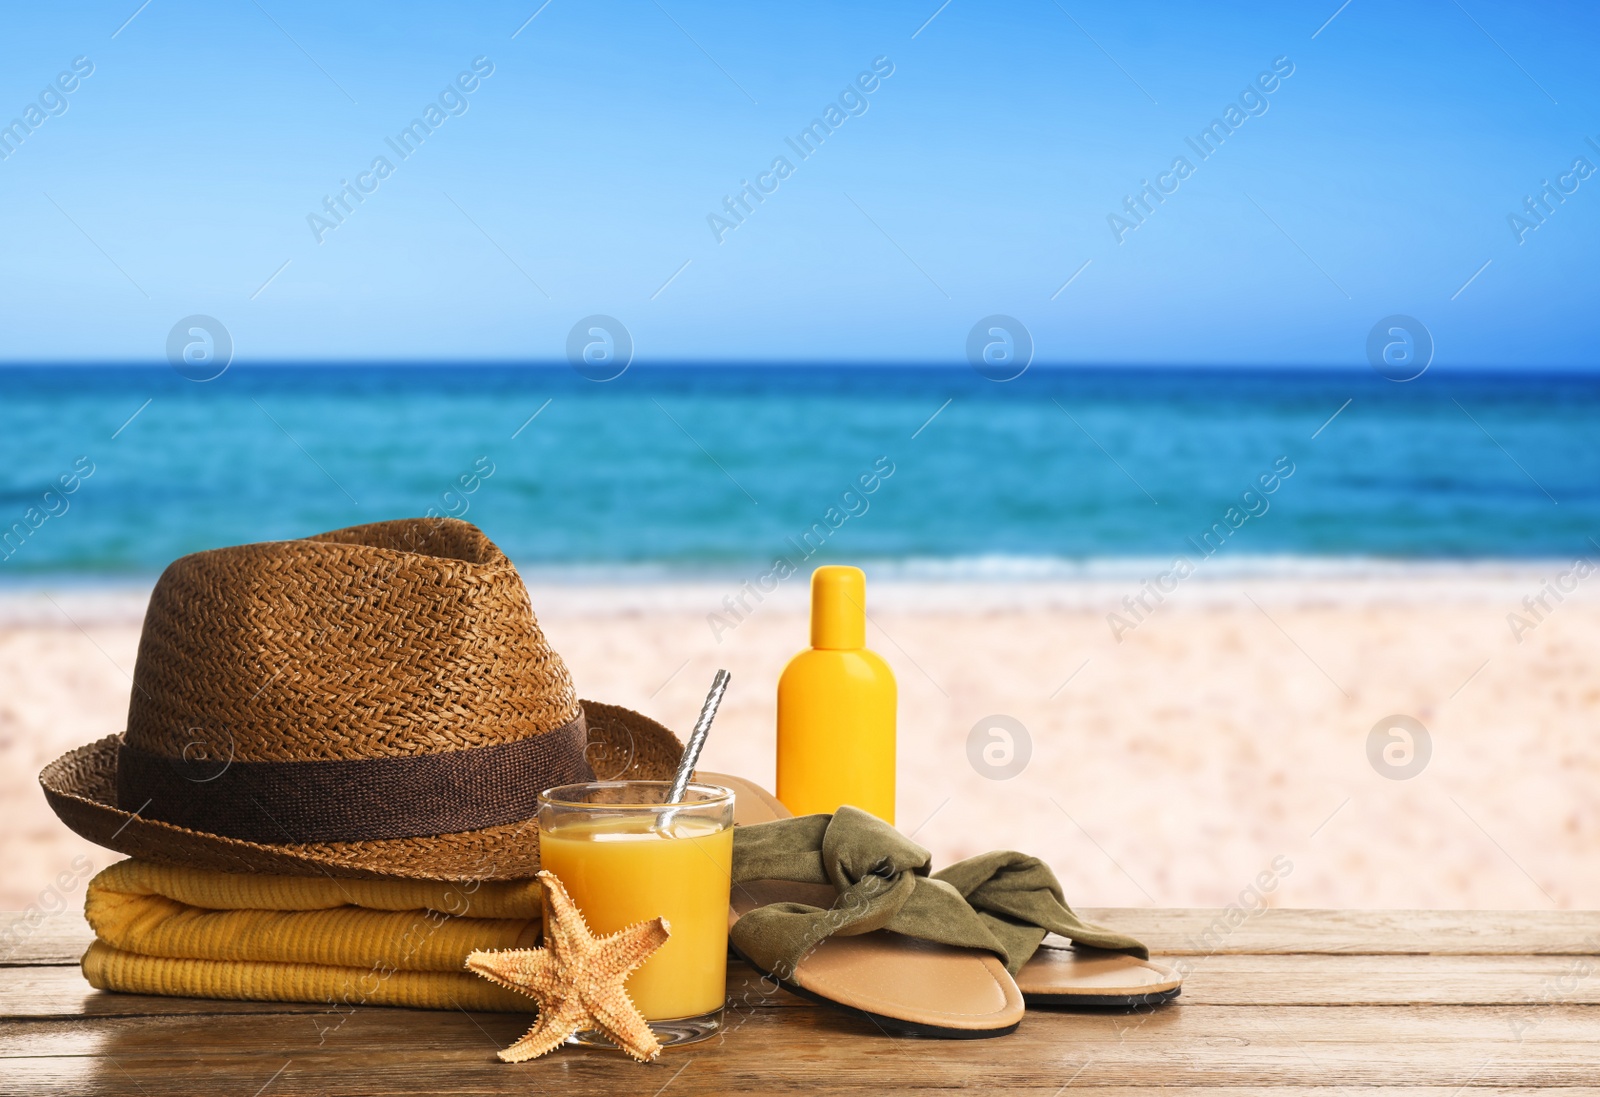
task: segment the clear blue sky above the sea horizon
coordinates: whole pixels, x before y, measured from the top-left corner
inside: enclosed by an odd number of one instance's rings
[[[10,8],[0,123],[93,74],[0,160],[0,357],[160,361],[206,313],[242,361],[560,360],[606,313],[640,361],[955,363],[1006,313],[1042,361],[1360,365],[1406,313],[1440,365],[1595,363],[1600,174],[1507,222],[1600,165],[1592,8],[539,2]],[[402,160],[386,138],[478,58]],[[1186,138],[1280,58],[1200,160]]]

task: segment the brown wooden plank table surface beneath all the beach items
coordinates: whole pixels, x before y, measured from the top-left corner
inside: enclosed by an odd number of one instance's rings
[[[763,995],[734,964],[718,1039],[651,1065],[565,1047],[515,1067],[494,1049],[523,1015],[99,993],[77,967],[88,927],[58,915],[0,961],[0,1092],[1600,1092],[1597,913],[1270,910],[1232,927],[1211,910],[1085,915],[1186,964],[1182,996],[1030,1011],[1002,1039],[891,1039]]]

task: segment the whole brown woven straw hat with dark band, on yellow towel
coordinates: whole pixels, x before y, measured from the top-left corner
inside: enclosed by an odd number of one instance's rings
[[[128,728],[38,776],[85,838],[224,872],[507,880],[542,788],[669,779],[656,721],[579,700],[517,569],[453,518],[213,548],[155,584]]]

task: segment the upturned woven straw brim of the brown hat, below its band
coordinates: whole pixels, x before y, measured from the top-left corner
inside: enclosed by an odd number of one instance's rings
[[[605,780],[669,780],[683,744],[659,723],[619,705],[579,702],[590,768]],[[400,880],[525,880],[539,872],[539,825],[523,819],[422,838],[272,846],[189,830],[117,806],[122,736],[67,752],[38,784],[51,811],[98,846],[130,857],[219,872]]]

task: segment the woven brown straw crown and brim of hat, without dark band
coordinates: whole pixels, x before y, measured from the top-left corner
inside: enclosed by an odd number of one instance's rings
[[[510,561],[456,520],[384,521],[174,561],[150,596],[126,740],[186,766],[402,758],[506,744],[584,715],[597,777],[669,779],[661,724],[579,702]],[[517,880],[534,820],[459,833],[269,844],[146,819],[117,801],[110,736],[40,774],[90,841],[222,872]],[[555,784],[555,782],[552,782]]]

